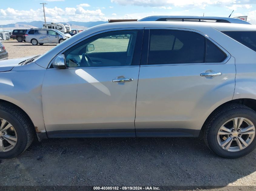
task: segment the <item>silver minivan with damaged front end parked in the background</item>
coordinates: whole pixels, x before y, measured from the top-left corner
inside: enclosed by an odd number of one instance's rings
[[[64,34],[58,30],[48,29],[29,29],[26,34],[26,42],[32,45],[43,45],[44,43],[62,43],[71,37],[70,34]]]

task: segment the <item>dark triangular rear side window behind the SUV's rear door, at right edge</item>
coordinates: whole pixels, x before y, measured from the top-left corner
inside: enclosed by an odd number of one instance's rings
[[[256,31],[222,31],[222,33],[256,51]]]

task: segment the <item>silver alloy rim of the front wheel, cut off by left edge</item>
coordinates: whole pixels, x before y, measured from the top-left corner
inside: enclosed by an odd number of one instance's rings
[[[0,118],[0,152],[12,150],[17,143],[17,132],[11,123]]]

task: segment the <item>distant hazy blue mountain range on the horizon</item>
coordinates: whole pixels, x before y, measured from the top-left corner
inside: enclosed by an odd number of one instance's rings
[[[50,22],[46,22],[50,24]],[[108,23],[108,21],[90,21],[90,22],[77,22],[77,21],[69,21],[69,22],[60,22],[62,24],[69,24],[71,29],[87,29],[89,27],[93,27],[99,24]],[[32,21],[32,22],[17,22],[13,24],[0,24],[0,28],[42,28],[44,21]]]

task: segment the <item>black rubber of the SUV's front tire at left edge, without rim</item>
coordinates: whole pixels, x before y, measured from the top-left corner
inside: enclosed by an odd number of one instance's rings
[[[17,143],[10,151],[0,152],[0,158],[13,158],[24,152],[32,143],[35,129],[26,113],[10,103],[0,103],[0,117],[15,128]]]

